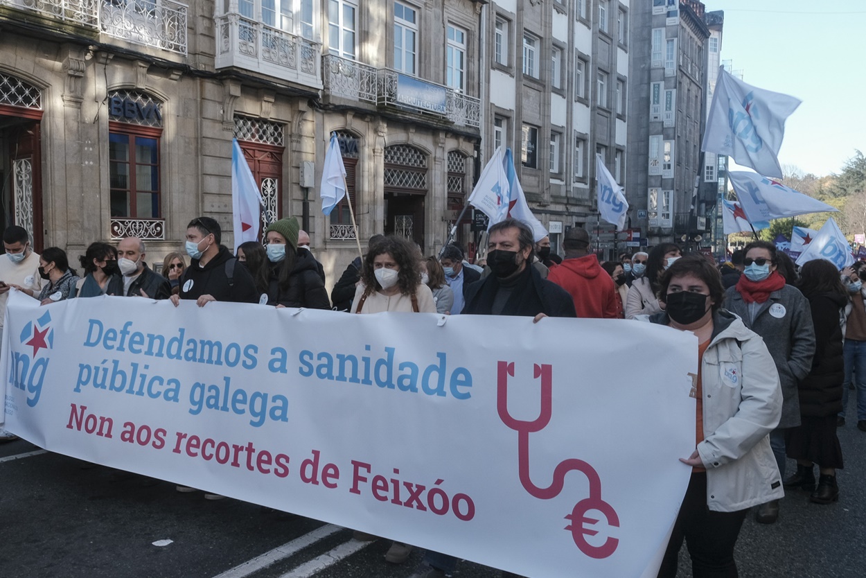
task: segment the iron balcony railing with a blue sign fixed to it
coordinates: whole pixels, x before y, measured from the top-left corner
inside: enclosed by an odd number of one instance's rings
[[[481,100],[453,88],[404,75],[391,68],[379,68],[377,88],[379,106],[410,108],[462,127],[481,127]]]

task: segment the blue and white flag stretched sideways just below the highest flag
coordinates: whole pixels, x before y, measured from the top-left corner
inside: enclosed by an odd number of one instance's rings
[[[766,179],[755,172],[731,171],[727,173],[743,211],[753,223],[773,218],[796,217],[813,212],[838,211],[802,192]]]

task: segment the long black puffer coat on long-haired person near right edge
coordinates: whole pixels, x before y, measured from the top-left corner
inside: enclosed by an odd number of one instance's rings
[[[842,411],[844,360],[839,310],[846,303],[844,295],[836,293],[809,298],[815,324],[815,356],[811,372],[798,386],[802,415],[820,418]]]

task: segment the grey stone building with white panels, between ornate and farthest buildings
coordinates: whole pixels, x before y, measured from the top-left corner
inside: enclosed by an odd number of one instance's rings
[[[483,157],[512,148],[557,250],[568,228],[599,229],[595,153],[625,183],[630,2],[496,0],[486,29]],[[612,250],[606,235],[600,250]]]

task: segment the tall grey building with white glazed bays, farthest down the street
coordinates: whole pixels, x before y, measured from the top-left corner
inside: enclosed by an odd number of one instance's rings
[[[633,12],[626,193],[651,245],[708,244],[717,184],[706,180],[708,38],[697,0],[652,0]]]

